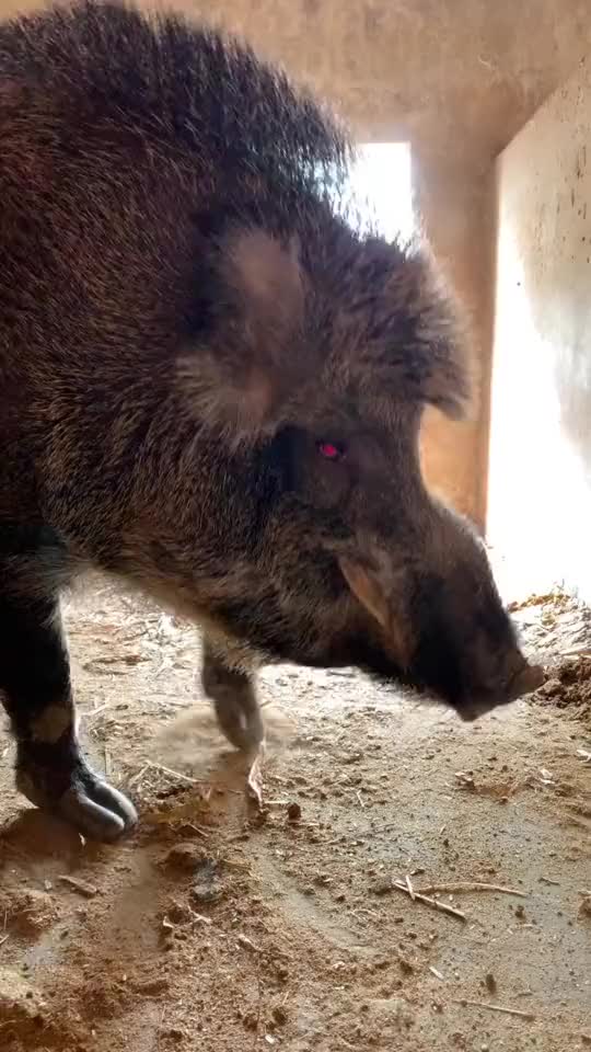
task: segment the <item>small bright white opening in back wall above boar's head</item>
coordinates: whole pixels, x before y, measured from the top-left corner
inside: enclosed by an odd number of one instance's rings
[[[408,240],[415,230],[413,180],[408,142],[367,142],[358,147],[359,160],[351,193],[361,213],[369,213],[387,241]]]

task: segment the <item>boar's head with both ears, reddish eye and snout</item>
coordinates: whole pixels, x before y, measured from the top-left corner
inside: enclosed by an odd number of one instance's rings
[[[421,477],[424,408],[461,418],[470,399],[455,308],[425,250],[315,218],[222,239],[217,317],[184,367],[229,456],[255,450],[280,480],[267,584],[236,630],[276,656],[355,664],[474,719],[542,677],[483,544]]]

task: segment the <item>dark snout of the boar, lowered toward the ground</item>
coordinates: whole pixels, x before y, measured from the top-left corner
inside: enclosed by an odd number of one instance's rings
[[[376,546],[371,563],[339,562],[380,626],[383,653],[367,663],[369,671],[387,678],[391,662],[392,679],[434,696],[470,722],[536,690],[545,677],[519,649],[483,546],[457,521],[443,523],[449,542],[439,551],[450,553],[443,568],[427,551],[418,570],[403,564],[396,573]]]

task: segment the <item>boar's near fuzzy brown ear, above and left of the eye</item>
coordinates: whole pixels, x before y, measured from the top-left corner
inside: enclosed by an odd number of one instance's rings
[[[257,228],[220,247],[213,331],[183,376],[194,411],[230,445],[251,445],[285,422],[304,364],[296,341],[304,288],[298,247]]]

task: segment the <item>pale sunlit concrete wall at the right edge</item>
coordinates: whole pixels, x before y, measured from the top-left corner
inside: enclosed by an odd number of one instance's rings
[[[498,162],[488,535],[512,592],[591,599],[591,70]]]

